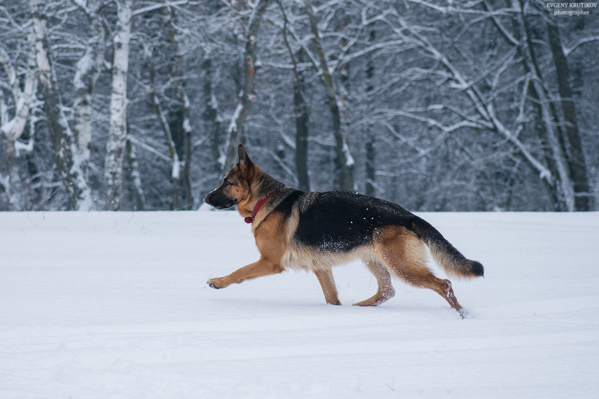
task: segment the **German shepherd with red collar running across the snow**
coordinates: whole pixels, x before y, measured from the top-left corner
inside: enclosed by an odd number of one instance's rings
[[[260,259],[208,280],[210,287],[225,288],[291,267],[312,270],[326,302],[338,305],[331,268],[358,258],[376,277],[379,288],[373,297],[355,305],[377,306],[391,299],[394,275],[435,291],[464,317],[451,282],[437,278],[428,268],[426,247],[451,276],[482,276],[483,265],[465,258],[429,223],[395,203],[350,191],[304,193],[283,188],[250,160],[243,145],[238,155],[237,166],[204,202],[215,209],[237,205],[241,216],[252,223]]]

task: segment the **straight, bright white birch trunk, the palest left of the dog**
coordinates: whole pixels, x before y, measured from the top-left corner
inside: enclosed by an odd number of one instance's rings
[[[114,35],[112,65],[112,95],[110,98],[110,132],[106,144],[104,184],[106,210],[117,211],[123,203],[123,158],[127,136],[127,74],[129,71],[129,40],[133,23],[133,0],[117,3],[119,20]]]

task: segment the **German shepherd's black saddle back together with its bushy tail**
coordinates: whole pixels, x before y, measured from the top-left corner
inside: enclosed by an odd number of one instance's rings
[[[483,266],[464,257],[428,222],[400,205],[351,191],[303,193],[292,190],[276,211],[291,217],[297,207],[295,245],[316,252],[347,254],[373,246],[377,235],[403,227],[428,246],[432,257],[449,275],[473,278],[483,275]],[[295,224],[295,223],[294,223]]]

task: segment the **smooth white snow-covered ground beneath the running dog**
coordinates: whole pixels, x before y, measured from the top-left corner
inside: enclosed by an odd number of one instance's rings
[[[360,264],[344,306],[304,272],[213,290],[258,257],[236,212],[0,213],[0,398],[597,398],[599,213],[420,216],[485,265],[473,318],[399,281],[350,306]]]

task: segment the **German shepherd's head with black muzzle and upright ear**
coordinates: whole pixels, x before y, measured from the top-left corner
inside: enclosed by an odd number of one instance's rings
[[[248,200],[252,195],[250,185],[256,176],[258,167],[247,156],[246,148],[241,144],[238,148],[238,155],[239,162],[226,174],[220,187],[204,197],[204,202],[214,209],[231,208],[233,205]]]

